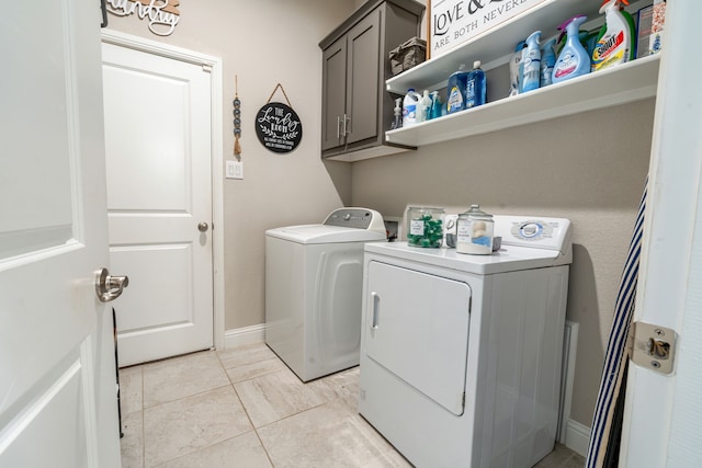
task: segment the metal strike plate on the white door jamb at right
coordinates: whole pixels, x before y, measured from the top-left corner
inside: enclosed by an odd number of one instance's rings
[[[634,322],[629,334],[630,357],[642,367],[660,374],[672,373],[676,354],[676,332],[645,322]]]

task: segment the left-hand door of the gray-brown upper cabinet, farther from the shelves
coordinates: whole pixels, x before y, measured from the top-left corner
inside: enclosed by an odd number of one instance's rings
[[[347,38],[339,38],[324,50],[321,79],[321,149],[341,146],[341,121],[347,99]]]

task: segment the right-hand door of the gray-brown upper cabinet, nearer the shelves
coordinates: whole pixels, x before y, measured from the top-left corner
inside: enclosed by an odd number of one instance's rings
[[[347,145],[378,136],[381,77],[381,10],[347,34]]]

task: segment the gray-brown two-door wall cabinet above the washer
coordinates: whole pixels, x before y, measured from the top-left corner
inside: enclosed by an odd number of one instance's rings
[[[319,43],[322,158],[354,161],[411,148],[385,141],[398,98],[385,80],[389,52],[419,36],[423,10],[414,0],[371,0]]]

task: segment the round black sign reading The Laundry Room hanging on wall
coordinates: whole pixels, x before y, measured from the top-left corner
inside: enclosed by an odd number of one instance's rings
[[[256,135],[273,152],[291,152],[303,139],[303,123],[287,104],[270,102],[256,115]]]

